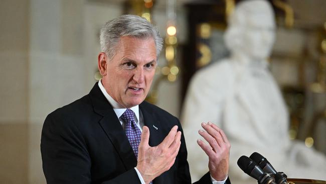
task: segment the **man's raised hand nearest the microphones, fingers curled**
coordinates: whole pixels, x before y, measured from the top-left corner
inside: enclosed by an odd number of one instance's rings
[[[202,123],[202,127],[206,131],[199,130],[199,134],[209,145],[199,139],[197,143],[209,157],[208,168],[212,177],[217,181],[222,181],[228,175],[231,145],[224,132],[215,124]]]

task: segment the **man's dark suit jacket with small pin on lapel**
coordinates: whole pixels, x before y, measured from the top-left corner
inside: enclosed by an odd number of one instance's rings
[[[168,112],[146,102],[139,108],[150,146],[158,145],[174,125],[182,131],[179,120]],[[47,116],[41,153],[47,183],[140,183],[136,157],[97,83],[88,95]],[[174,165],[153,183],[191,183],[184,136]],[[198,183],[211,183],[209,173]]]

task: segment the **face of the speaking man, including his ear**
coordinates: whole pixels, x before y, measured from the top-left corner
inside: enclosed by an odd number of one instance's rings
[[[121,37],[111,60],[103,52],[99,54],[103,86],[124,108],[139,105],[145,100],[156,64],[156,47],[151,37]]]

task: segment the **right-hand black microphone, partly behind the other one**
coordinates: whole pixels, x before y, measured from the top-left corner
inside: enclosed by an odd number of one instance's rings
[[[263,157],[261,154],[254,152],[250,155],[250,157],[253,161],[258,163],[258,166],[263,168],[265,172],[271,173],[274,175],[274,178],[277,182],[277,184],[286,184],[287,183],[287,176],[284,172],[276,172],[272,164],[268,162],[268,160]]]

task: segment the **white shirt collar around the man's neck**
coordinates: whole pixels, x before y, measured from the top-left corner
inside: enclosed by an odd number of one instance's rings
[[[107,93],[105,90],[103,84],[102,84],[102,79],[98,81],[98,86],[101,89],[103,95],[107,99],[107,101],[111,104],[113,107],[113,111],[115,112],[116,116],[120,118],[120,116],[127,110],[126,108],[122,107],[119,103],[117,103],[112,97]],[[134,107],[131,107],[130,110],[132,110],[135,113],[136,119],[135,122],[139,122],[139,106],[136,105]]]

